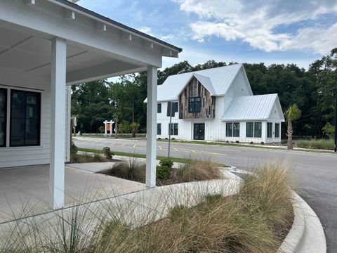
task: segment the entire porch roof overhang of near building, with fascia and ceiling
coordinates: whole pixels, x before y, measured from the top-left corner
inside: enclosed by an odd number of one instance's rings
[[[0,0],[0,72],[50,81],[51,41],[67,41],[67,85],[161,67],[182,50],[67,0]]]

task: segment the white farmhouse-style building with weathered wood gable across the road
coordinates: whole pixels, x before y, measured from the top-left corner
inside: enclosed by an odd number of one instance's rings
[[[146,100],[145,100],[146,102]],[[284,116],[277,94],[253,96],[244,65],[168,77],[158,86],[157,138],[281,141]]]

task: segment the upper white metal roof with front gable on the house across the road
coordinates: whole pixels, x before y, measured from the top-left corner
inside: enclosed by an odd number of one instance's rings
[[[178,95],[192,77],[196,77],[213,96],[223,96],[242,67],[242,64],[234,64],[209,70],[173,74],[167,77],[164,84],[158,86],[158,101],[177,100]]]

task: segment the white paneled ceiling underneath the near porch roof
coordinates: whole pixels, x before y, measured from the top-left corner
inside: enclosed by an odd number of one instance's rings
[[[6,22],[0,22],[0,34],[0,69],[16,70],[41,79],[51,76],[51,35],[13,27]],[[145,69],[143,63],[113,58],[67,41],[68,84]]]

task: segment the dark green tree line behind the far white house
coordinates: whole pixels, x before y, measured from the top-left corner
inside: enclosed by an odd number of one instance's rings
[[[204,70],[234,63],[209,60],[192,66],[182,61],[158,71],[158,84],[171,74]],[[308,70],[296,64],[244,63],[254,95],[278,93],[284,112],[296,104],[300,119],[294,136],[329,136],[334,124],[334,89],[337,87],[337,48],[310,64]],[[113,119],[119,132],[145,132],[147,73],[123,76],[118,82],[107,79],[72,86],[72,116],[82,133],[104,131],[103,121]],[[133,124],[132,124],[133,123]],[[136,125],[135,125],[136,124]],[[282,133],[285,133],[283,126]],[[330,129],[328,132],[328,130]]]

